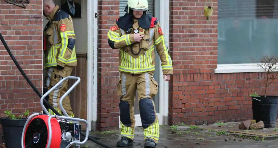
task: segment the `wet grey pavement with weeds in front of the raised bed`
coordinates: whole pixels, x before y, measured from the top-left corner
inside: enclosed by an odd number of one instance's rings
[[[199,126],[200,127],[200,126]],[[160,138],[157,148],[277,148],[277,140],[262,141],[261,139],[247,139],[243,137],[235,137],[232,134],[216,135],[216,130],[209,129],[192,129],[188,127],[180,128],[173,134],[170,126],[160,128]],[[190,131],[190,132],[189,132]],[[221,130],[219,130],[221,131]],[[117,141],[120,140],[120,131],[112,132],[90,132],[91,136],[100,137],[100,142],[108,146],[115,147]],[[103,148],[97,144],[88,141],[86,148]],[[126,148],[143,148],[144,135],[142,128],[135,129],[135,138],[133,146]]]

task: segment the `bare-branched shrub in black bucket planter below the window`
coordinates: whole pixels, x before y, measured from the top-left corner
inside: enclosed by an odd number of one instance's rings
[[[278,57],[275,55],[264,55],[260,60],[254,61],[255,66],[262,69],[262,79],[264,79],[264,95],[253,92],[252,98],[253,119],[256,122],[263,121],[265,128],[274,128],[276,125],[278,96],[267,95],[270,84],[276,80],[278,76]]]

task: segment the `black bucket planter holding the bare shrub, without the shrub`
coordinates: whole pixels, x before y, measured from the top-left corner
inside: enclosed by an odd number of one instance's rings
[[[278,96],[252,96],[253,119],[256,123],[264,122],[265,128],[274,128],[276,125]]]

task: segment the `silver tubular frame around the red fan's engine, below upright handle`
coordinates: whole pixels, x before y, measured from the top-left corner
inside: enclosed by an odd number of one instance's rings
[[[51,118],[59,118],[59,119],[66,119],[66,120],[85,122],[86,123],[86,135],[85,135],[85,139],[82,142],[77,142],[77,141],[69,142],[69,144],[65,148],[69,148],[73,144],[80,144],[81,145],[81,144],[85,144],[87,142],[88,137],[89,137],[89,123],[88,123],[88,121],[86,121],[84,119],[73,118],[73,117],[51,115],[48,118],[48,135],[49,136],[48,136],[48,144],[47,144],[46,148],[49,148],[50,144],[51,144],[51,138],[52,138],[52,129],[51,129],[51,122],[50,122]]]

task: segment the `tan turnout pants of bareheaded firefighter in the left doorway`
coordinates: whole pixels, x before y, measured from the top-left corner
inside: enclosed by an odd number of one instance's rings
[[[63,70],[58,70],[56,67],[52,67],[47,69],[46,71],[46,80],[44,89],[50,90],[54,85],[56,85],[60,80],[63,78],[70,76],[71,72],[73,70],[72,66],[65,66]],[[49,93],[49,100],[48,102],[62,115],[64,115],[61,111],[61,108],[59,106],[60,98],[68,91],[68,80],[65,80],[61,85],[59,85],[57,88],[55,88],[51,93]],[[46,92],[44,92],[46,93]],[[63,99],[63,107],[66,110],[67,114],[70,117],[74,117],[73,111],[71,109],[71,104],[69,100],[69,95],[67,95]],[[48,110],[50,115],[55,115],[51,109]]]

